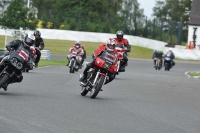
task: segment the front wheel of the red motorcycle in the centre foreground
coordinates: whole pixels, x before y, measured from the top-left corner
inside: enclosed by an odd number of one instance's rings
[[[91,99],[94,99],[98,95],[99,91],[101,91],[104,80],[105,80],[105,76],[101,75],[97,81],[96,87],[91,90],[91,94],[90,94]]]

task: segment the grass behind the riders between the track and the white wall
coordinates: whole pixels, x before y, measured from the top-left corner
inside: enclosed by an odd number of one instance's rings
[[[45,49],[50,50],[51,55],[52,54],[68,55],[68,50],[70,47],[74,45],[74,42],[75,41],[44,39]],[[4,43],[5,43],[5,36],[0,36],[0,48],[4,48]],[[95,49],[101,44],[103,44],[97,42],[84,42],[84,41],[81,41],[81,43],[85,47],[87,56],[92,55]],[[152,49],[131,45],[131,52],[129,53],[129,58],[150,59],[152,56],[152,52],[153,52]],[[41,60],[39,63],[39,67],[48,65],[66,65],[66,63],[67,60]]]

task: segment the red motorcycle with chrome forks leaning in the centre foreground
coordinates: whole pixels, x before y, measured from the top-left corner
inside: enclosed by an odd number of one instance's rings
[[[103,84],[109,80],[108,73],[116,74],[117,66],[114,65],[116,57],[108,51],[104,51],[94,62],[94,68],[88,70],[85,83],[81,82],[81,95],[85,96],[90,91],[90,98],[94,99]]]

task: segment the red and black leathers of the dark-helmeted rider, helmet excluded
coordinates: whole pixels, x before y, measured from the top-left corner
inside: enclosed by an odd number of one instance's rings
[[[122,38],[121,40],[119,40],[118,38],[114,38],[114,40],[116,41],[116,47],[120,47],[120,48],[125,49],[125,52],[123,54],[124,62],[121,65],[121,70],[119,70],[119,71],[124,72],[125,71],[125,66],[127,66],[127,63],[128,63],[127,52],[131,52],[131,46],[129,45],[128,40],[125,39],[125,38]]]

